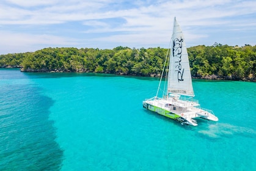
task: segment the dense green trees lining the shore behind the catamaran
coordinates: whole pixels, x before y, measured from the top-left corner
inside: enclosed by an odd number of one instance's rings
[[[119,75],[159,76],[167,49],[45,48],[33,53],[2,54],[0,67],[22,71],[96,72]],[[254,79],[256,45],[243,47],[215,43],[188,48],[191,75],[208,79]]]

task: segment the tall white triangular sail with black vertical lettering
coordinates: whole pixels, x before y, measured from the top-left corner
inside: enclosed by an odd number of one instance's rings
[[[176,18],[170,51],[168,93],[194,96],[185,38]]]

